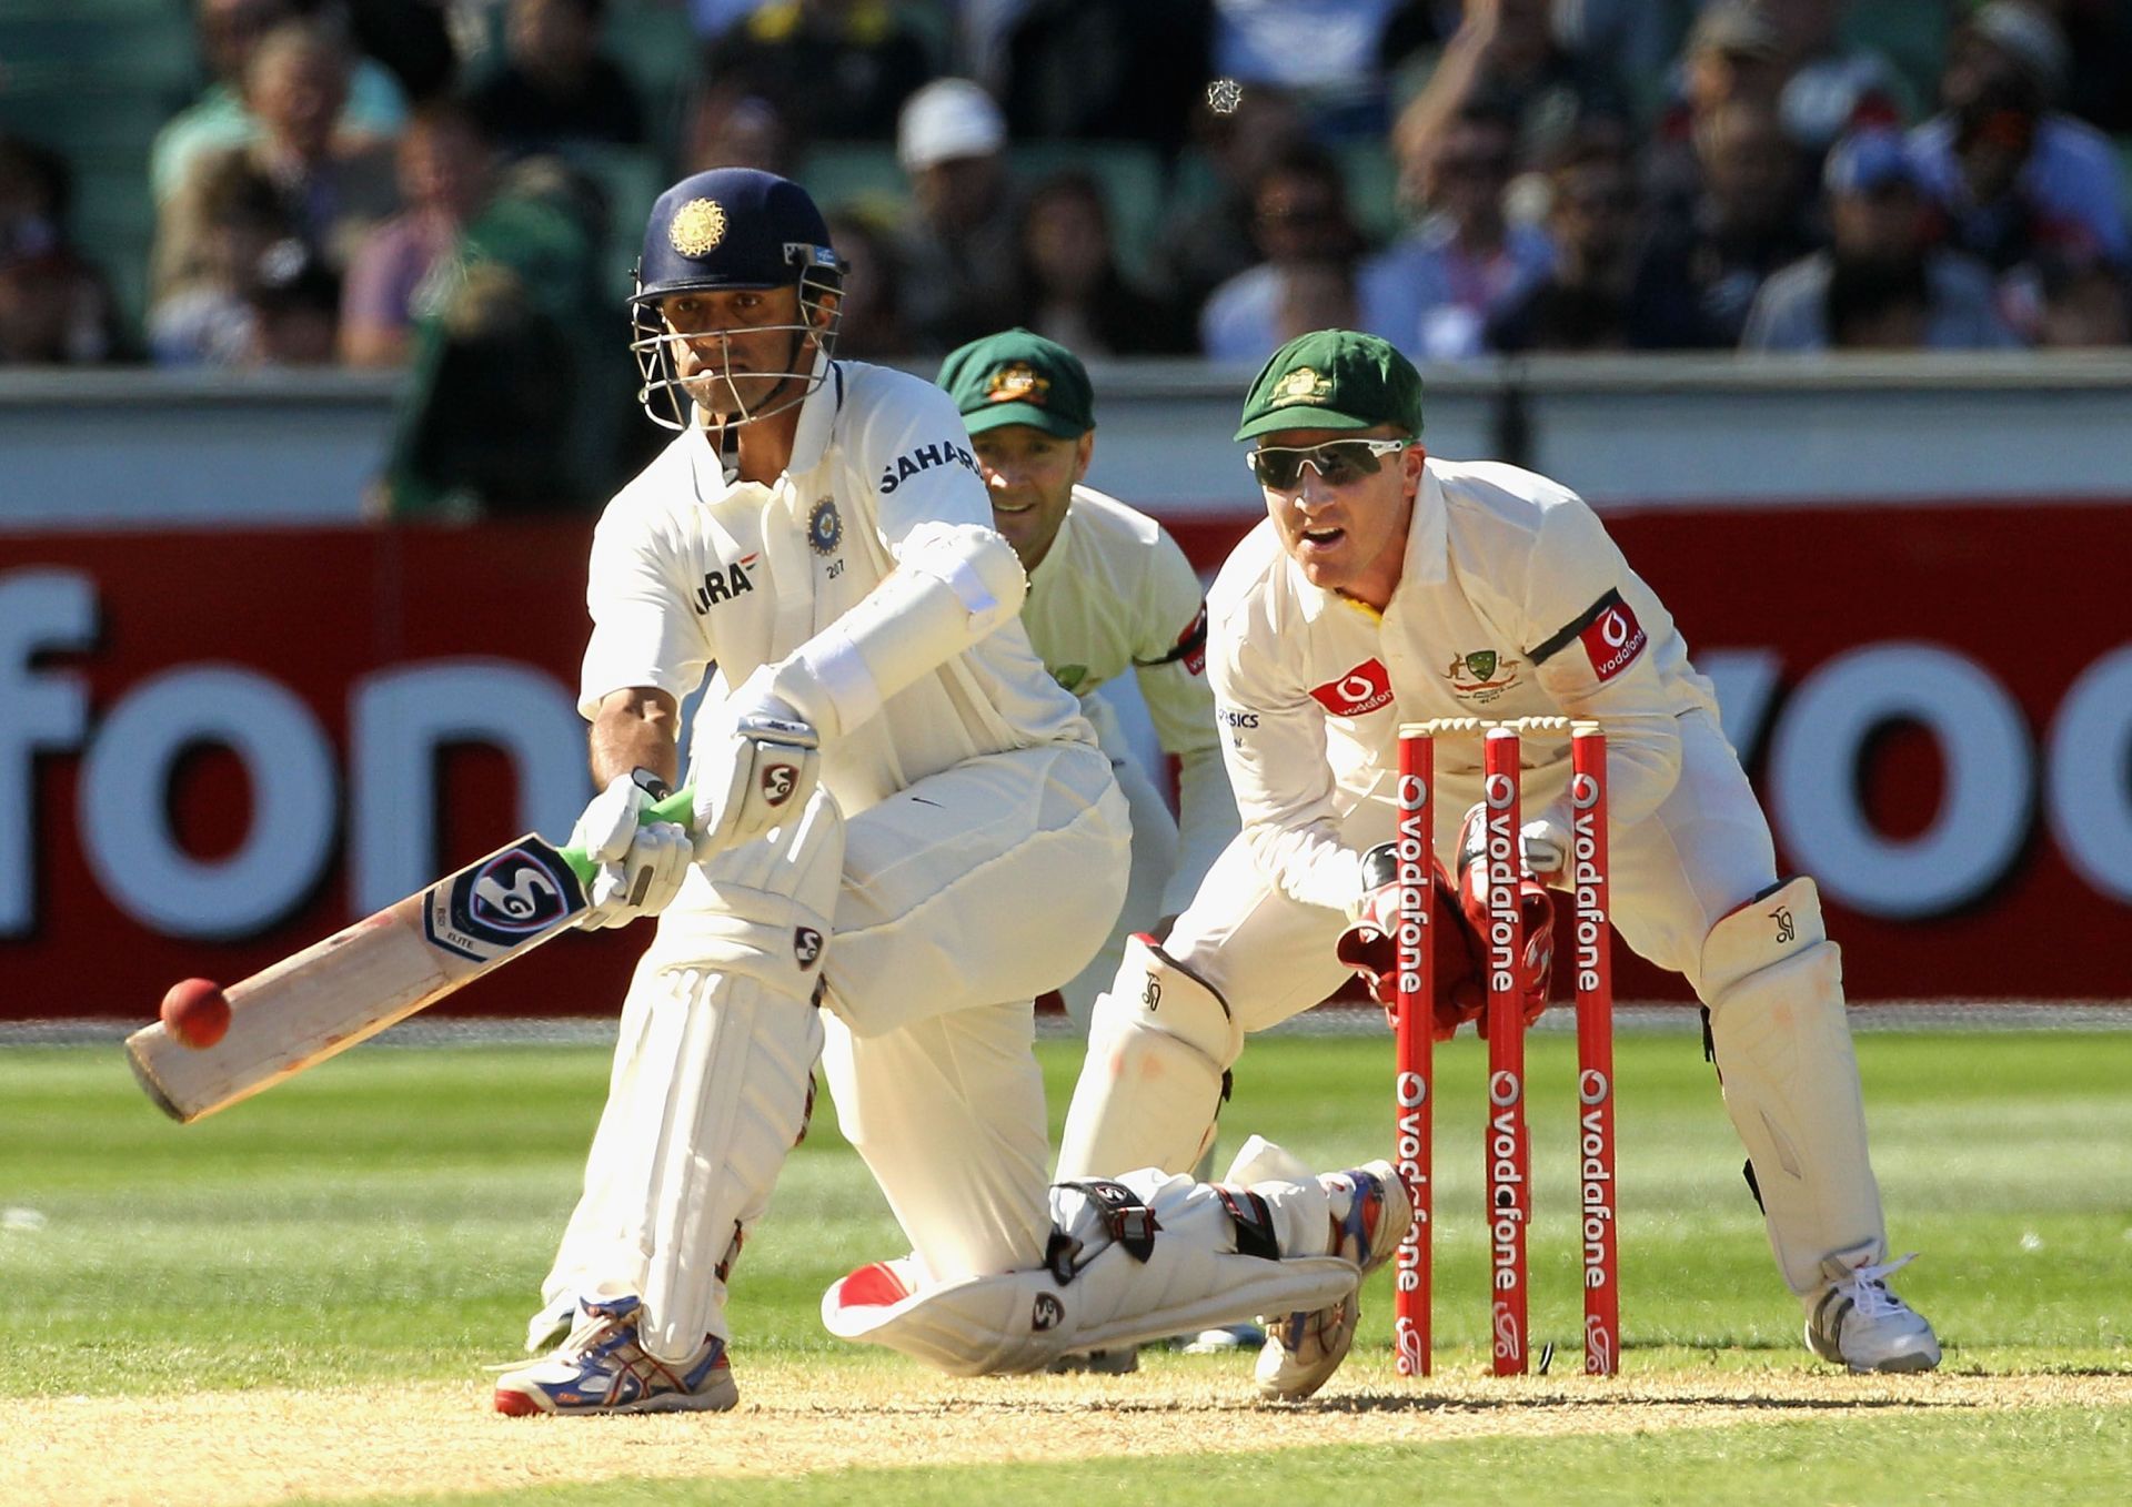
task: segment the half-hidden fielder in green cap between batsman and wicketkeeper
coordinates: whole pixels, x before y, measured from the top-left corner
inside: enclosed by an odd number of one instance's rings
[[[991,522],[1030,573],[1021,605],[1030,646],[1081,699],[1132,812],[1126,906],[1094,961],[1060,987],[1085,1036],[1126,938],[1160,936],[1237,836],[1207,686],[1207,601],[1162,524],[1083,484],[1096,454],[1096,390],[1079,356],[1006,330],[951,352],[938,384],[970,431]],[[1098,695],[1128,669],[1162,752],[1177,759],[1177,816]]]

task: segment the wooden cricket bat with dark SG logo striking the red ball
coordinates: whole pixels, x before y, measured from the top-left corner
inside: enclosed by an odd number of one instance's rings
[[[676,791],[642,821],[689,825],[691,808]],[[126,1038],[134,1076],[181,1125],[247,1100],[574,927],[597,870],[582,848],[527,833],[226,989],[230,1025],[213,1047],[143,1025]]]

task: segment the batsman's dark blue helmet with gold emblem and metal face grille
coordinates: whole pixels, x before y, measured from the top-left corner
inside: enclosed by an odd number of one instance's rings
[[[733,382],[697,375],[682,384],[676,343],[718,341],[742,330],[697,330],[691,337],[667,328],[659,301],[682,292],[742,292],[793,288],[800,296],[797,324],[746,324],[748,335],[785,330],[791,335],[789,371],[776,375],[768,399],[748,401]],[[748,424],[806,401],[836,354],[842,318],[844,262],[829,245],[829,226],[804,188],[755,168],[712,168],[669,188],[652,205],[637,258],[629,313],[635,326],[631,352],[644,386],[637,401],[652,422],[689,428],[691,405]],[[691,392],[693,386],[693,392]]]

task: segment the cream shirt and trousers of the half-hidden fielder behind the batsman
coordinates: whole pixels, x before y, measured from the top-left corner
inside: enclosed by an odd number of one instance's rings
[[[1183,910],[1237,836],[1237,797],[1207,684],[1207,601],[1198,573],[1162,524],[1077,486],[1057,537],[1030,571],[1021,627],[1051,678],[1081,697],[1132,808],[1126,906],[1096,959],[1060,989],[1085,1032],[1126,938]],[[1128,669],[1162,752],[1177,759],[1175,816],[1162,795],[1162,772],[1141,767],[1117,712],[1098,695]]]

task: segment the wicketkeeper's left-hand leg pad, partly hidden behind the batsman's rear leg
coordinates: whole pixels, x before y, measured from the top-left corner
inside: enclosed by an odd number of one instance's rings
[[[1145,936],[1130,938],[1117,978],[1096,1000],[1060,1179],[1188,1170],[1213,1143],[1222,1079],[1239,1055],[1243,1027],[1222,995]]]

